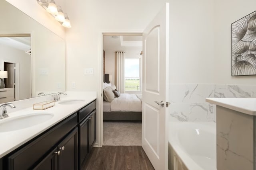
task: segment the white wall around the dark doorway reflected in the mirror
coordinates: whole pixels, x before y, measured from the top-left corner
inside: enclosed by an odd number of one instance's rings
[[[19,63],[19,100],[31,98],[31,56],[24,51],[0,44],[0,70],[5,62]]]

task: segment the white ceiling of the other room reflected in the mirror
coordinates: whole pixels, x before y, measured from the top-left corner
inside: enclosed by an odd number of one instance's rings
[[[30,50],[30,37],[0,37],[0,45],[19,49],[22,51]]]

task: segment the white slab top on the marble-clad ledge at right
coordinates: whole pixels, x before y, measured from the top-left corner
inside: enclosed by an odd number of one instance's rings
[[[256,115],[256,98],[206,98],[206,102],[248,115]]]

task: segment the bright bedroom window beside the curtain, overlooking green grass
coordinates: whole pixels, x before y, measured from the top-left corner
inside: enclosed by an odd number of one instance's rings
[[[140,59],[124,59],[124,90],[140,92]]]

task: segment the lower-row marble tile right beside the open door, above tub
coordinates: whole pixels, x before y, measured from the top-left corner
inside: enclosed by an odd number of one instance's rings
[[[188,103],[173,103],[169,111],[170,121],[188,121]]]

